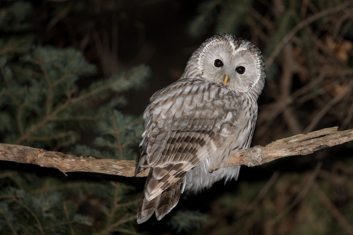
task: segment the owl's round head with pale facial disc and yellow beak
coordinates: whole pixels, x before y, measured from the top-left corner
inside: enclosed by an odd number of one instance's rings
[[[265,63],[253,43],[223,33],[207,39],[190,57],[183,78],[196,76],[259,95],[266,77]]]

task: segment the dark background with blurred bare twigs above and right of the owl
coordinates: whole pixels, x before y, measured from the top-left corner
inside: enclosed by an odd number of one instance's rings
[[[190,30],[211,2],[216,6],[205,16],[205,24]],[[205,39],[224,32],[255,43],[268,69],[252,146],[332,126],[353,128],[352,1],[90,0],[32,4],[37,45],[73,47],[97,65],[98,74],[78,81],[80,87],[142,63],[151,68],[145,87],[125,93],[128,103],[122,110],[126,114],[142,115],[155,91],[180,78],[192,52]],[[246,11],[241,14],[232,7]],[[227,26],[225,19],[231,17],[237,25],[220,31]],[[82,141],[89,142],[91,134]],[[347,143],[307,156],[242,167],[237,182],[226,186],[220,182],[207,192],[182,196],[166,219],[133,224],[136,231],[131,234],[177,233],[168,219],[178,210],[208,215],[201,228],[183,233],[353,234],[352,147]],[[79,173],[71,177],[97,178]],[[137,190],[144,184],[143,179],[108,179],[137,185]]]

